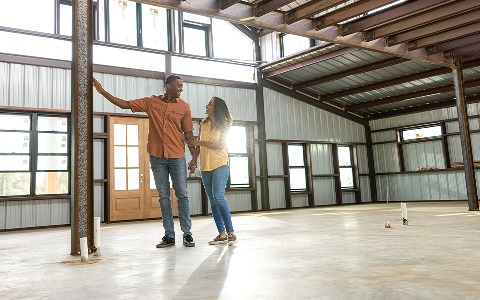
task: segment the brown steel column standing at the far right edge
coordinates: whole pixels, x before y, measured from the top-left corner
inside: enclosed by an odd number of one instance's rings
[[[470,128],[468,127],[467,105],[465,103],[465,90],[463,87],[462,64],[460,61],[455,61],[455,66],[452,68],[452,72],[453,81],[455,83],[455,97],[457,98],[457,113],[460,128],[460,142],[462,144],[463,165],[465,168],[465,183],[467,185],[468,210],[478,210],[472,144],[470,141]]]

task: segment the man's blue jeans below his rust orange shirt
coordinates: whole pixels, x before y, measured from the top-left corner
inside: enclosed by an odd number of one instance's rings
[[[164,158],[150,155],[150,167],[152,168],[158,196],[160,197],[160,210],[162,211],[163,228],[165,235],[175,238],[173,225],[173,211],[170,201],[170,182],[172,178],[173,189],[178,201],[178,218],[183,236],[191,234],[192,221],[190,219],[190,204],[187,195],[187,163],[185,157]]]

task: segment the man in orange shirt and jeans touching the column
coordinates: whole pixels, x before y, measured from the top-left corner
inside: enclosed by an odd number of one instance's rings
[[[150,154],[150,166],[155,178],[160,209],[162,211],[165,235],[157,248],[175,245],[173,212],[170,202],[169,176],[178,200],[178,216],[183,231],[183,244],[194,247],[190,229],[190,206],[187,196],[187,166],[185,161],[185,140],[193,140],[193,122],[190,105],[180,98],[183,80],[176,75],[165,79],[165,94],[125,101],[103,89],[94,78],[93,85],[97,92],[114,105],[131,109],[133,112],[146,112],[149,120],[147,151]],[[196,168],[195,147],[188,147],[192,160],[189,169]]]

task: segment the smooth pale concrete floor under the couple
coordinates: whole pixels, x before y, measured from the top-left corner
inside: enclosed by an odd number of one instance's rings
[[[156,249],[160,221],[102,224],[100,257],[70,256],[70,228],[0,233],[0,299],[480,299],[480,214],[466,202],[234,214],[236,246]],[[390,221],[392,228],[385,228]]]

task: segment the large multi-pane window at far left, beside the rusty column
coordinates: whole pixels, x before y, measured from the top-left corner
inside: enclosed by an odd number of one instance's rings
[[[0,196],[69,193],[68,117],[0,114]]]

